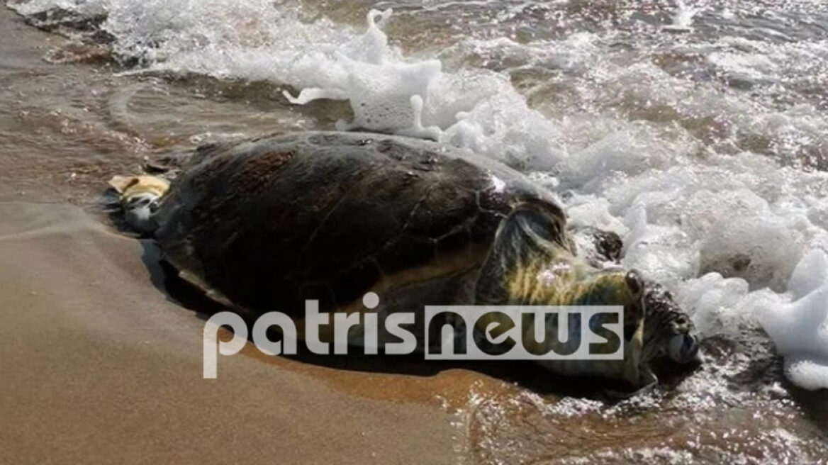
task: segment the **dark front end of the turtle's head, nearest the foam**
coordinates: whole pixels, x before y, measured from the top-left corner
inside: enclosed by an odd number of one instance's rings
[[[644,357],[668,357],[682,365],[699,360],[699,341],[690,317],[662,285],[647,283],[644,291]]]

